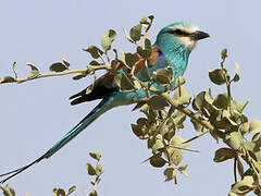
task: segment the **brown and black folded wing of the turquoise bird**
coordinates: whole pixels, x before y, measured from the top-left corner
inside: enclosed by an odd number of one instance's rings
[[[137,74],[138,72],[140,72],[142,70],[142,68],[145,66],[145,64],[146,64],[145,62],[147,60],[148,60],[148,64],[150,68],[157,65],[158,64],[157,61],[158,61],[158,58],[160,57],[160,53],[161,52],[159,51],[159,49],[157,47],[153,47],[151,56],[148,59],[140,58],[140,60],[138,61],[138,63],[135,66],[134,73]],[[123,66],[124,65],[122,62],[117,62],[112,66],[112,69],[114,71],[120,71]],[[154,68],[154,69],[157,69],[157,68]],[[92,86],[92,90],[89,94],[86,94],[86,90],[90,86],[88,86],[84,90],[70,97],[70,99],[74,99],[71,102],[71,105],[78,105],[80,102],[91,101],[95,99],[103,99],[103,98],[108,97],[110,94],[119,90],[116,84],[114,83],[114,75],[111,72],[107,72],[104,75],[102,75],[101,77],[96,79],[94,83],[94,86]]]

